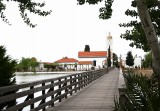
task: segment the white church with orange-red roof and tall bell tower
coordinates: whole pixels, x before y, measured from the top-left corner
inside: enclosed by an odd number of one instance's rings
[[[79,69],[91,69],[91,67],[95,67],[96,69],[98,68],[103,68],[107,67],[107,57],[108,57],[108,49],[110,47],[110,52],[111,52],[111,62],[113,58],[113,38],[112,36],[109,35],[106,38],[106,51],[80,51],[78,52],[78,59],[79,59]],[[85,63],[88,64],[85,64]]]

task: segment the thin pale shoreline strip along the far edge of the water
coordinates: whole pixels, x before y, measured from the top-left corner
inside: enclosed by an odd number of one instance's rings
[[[76,74],[85,71],[60,71],[60,72],[15,72],[15,75],[33,75],[33,74]]]

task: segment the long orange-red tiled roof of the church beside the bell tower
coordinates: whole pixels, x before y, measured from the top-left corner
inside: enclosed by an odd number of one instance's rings
[[[78,52],[79,58],[106,58],[106,51]]]

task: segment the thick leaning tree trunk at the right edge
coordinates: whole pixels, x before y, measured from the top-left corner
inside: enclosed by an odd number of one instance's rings
[[[156,35],[153,23],[151,21],[146,0],[136,0],[137,10],[142,23],[143,30],[145,32],[146,38],[152,50],[153,56],[153,71],[158,77],[158,88],[160,90],[160,47],[158,45],[158,37]],[[160,92],[160,91],[159,91]],[[160,111],[160,107],[159,110]]]

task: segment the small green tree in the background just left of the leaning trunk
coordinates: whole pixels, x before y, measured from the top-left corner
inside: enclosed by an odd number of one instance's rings
[[[148,52],[145,55],[142,67],[144,68],[152,67],[152,53],[151,52]]]

